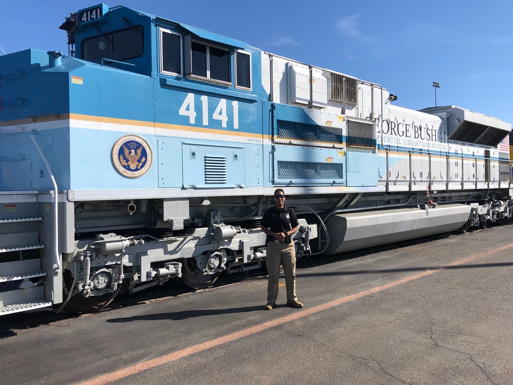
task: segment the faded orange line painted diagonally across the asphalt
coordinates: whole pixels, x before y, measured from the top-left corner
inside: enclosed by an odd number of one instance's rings
[[[115,380],[118,380],[118,379],[121,379],[121,378],[124,378],[124,377],[128,377],[128,376],[130,376],[132,374],[139,373],[139,372],[145,371],[147,369],[155,368],[155,367],[157,367],[159,365],[162,365],[164,363],[168,363],[168,362],[171,362],[171,361],[176,361],[176,360],[178,360],[180,358],[190,356],[191,354],[199,353],[199,352],[202,352],[204,350],[207,350],[207,349],[210,349],[210,348],[214,348],[214,347],[222,345],[222,344],[224,344],[226,342],[234,341],[234,340],[237,340],[237,339],[242,338],[242,337],[246,337],[246,336],[249,336],[249,335],[252,335],[252,334],[255,334],[255,333],[259,333],[259,332],[261,332],[263,330],[274,328],[274,326],[278,326],[278,325],[284,324],[286,322],[294,321],[294,320],[297,320],[299,318],[309,316],[311,314],[319,313],[320,311],[330,309],[330,307],[338,306],[338,305],[340,305],[342,303],[346,303],[346,302],[353,301],[353,300],[358,299],[358,298],[362,298],[362,297],[368,296],[369,294],[381,292],[381,291],[386,290],[386,289],[388,289],[390,287],[394,287],[394,286],[401,285],[403,283],[414,281],[416,279],[419,279],[419,278],[428,276],[430,274],[439,272],[441,270],[444,270],[444,269],[446,269],[448,267],[461,265],[463,263],[470,262],[470,261],[472,261],[474,259],[488,257],[491,254],[503,251],[503,250],[508,249],[510,247],[513,247],[513,243],[508,244],[506,246],[502,246],[502,247],[499,247],[499,248],[492,249],[492,250],[490,250],[490,251],[488,251],[486,253],[482,253],[482,254],[474,255],[474,256],[471,256],[471,257],[468,257],[468,258],[460,259],[459,261],[449,263],[448,265],[445,265],[445,266],[442,266],[442,267],[438,267],[438,268],[431,269],[431,270],[426,270],[425,272],[422,272],[422,273],[419,273],[419,274],[415,274],[415,275],[412,275],[412,276],[409,276],[409,277],[406,277],[406,278],[401,278],[401,279],[398,279],[397,281],[389,282],[389,283],[386,283],[386,284],[381,285],[381,286],[373,287],[373,288],[370,288],[369,290],[364,290],[363,292],[360,292],[360,293],[351,294],[349,296],[345,296],[345,297],[342,297],[342,298],[339,298],[339,299],[336,299],[336,300],[333,300],[333,301],[330,301],[330,302],[326,302],[326,303],[324,303],[322,305],[310,307],[309,309],[305,309],[305,310],[302,310],[302,311],[297,312],[297,313],[292,313],[292,314],[290,314],[288,316],[277,318],[277,319],[272,320],[272,321],[267,321],[267,322],[264,322],[264,323],[262,323],[260,325],[252,326],[251,328],[244,329],[244,330],[241,330],[239,332],[227,334],[227,335],[225,335],[223,337],[215,338],[213,340],[206,341],[206,342],[200,343],[198,345],[194,345],[194,346],[192,346],[190,348],[182,349],[182,350],[176,351],[174,353],[170,353],[170,354],[166,354],[166,355],[161,356],[161,357],[153,358],[151,360],[144,361],[144,362],[132,365],[131,367],[128,367],[128,368],[125,368],[125,369],[121,369],[121,370],[118,370],[118,371],[115,371],[115,372],[112,372],[112,373],[107,373],[107,374],[105,374],[103,376],[93,378],[93,379],[91,379],[89,381],[81,382],[78,385],[104,385],[106,383],[109,383],[109,382],[112,382],[112,381],[115,381]]]

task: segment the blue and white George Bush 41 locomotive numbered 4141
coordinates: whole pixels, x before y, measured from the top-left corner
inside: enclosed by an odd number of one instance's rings
[[[60,28],[0,56],[0,315],[259,268],[278,187],[298,258],[511,219],[509,123],[123,6]]]

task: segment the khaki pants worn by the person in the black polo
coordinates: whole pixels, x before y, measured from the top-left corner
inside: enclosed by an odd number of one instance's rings
[[[289,244],[275,244],[269,242],[266,247],[265,261],[267,264],[267,273],[269,274],[267,282],[267,303],[276,303],[278,298],[278,280],[280,278],[280,265],[283,265],[285,273],[285,287],[287,289],[287,302],[293,302],[298,299],[295,295],[295,250],[294,242]]]

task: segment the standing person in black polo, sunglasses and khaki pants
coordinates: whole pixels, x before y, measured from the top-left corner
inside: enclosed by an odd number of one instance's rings
[[[278,280],[280,265],[285,273],[287,305],[300,309],[303,304],[295,295],[295,249],[292,235],[298,232],[299,222],[291,208],[285,207],[285,192],[278,188],[274,191],[274,206],[265,211],[260,221],[262,231],[267,234],[266,264],[269,275],[267,282],[267,304],[264,310],[276,306],[278,298]]]

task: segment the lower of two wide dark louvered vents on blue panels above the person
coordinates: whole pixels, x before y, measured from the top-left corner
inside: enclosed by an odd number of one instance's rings
[[[343,163],[278,161],[279,179],[342,179]]]

